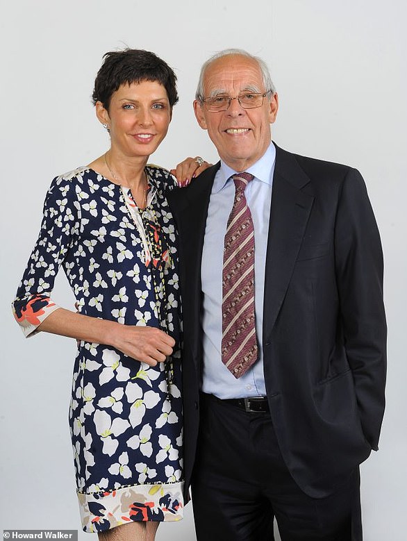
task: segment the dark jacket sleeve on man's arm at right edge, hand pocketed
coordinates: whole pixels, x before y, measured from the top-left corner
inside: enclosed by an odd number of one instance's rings
[[[335,268],[360,422],[365,438],[377,449],[385,406],[383,254],[365,182],[356,169],[349,169],[338,200]]]

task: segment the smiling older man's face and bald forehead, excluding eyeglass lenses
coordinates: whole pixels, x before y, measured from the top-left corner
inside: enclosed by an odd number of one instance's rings
[[[204,98],[217,94],[236,97],[244,92],[267,92],[260,67],[255,60],[231,54],[214,60],[204,76]],[[263,156],[271,141],[270,124],[277,115],[277,94],[255,109],[243,109],[233,99],[226,111],[210,112],[194,101],[199,126],[208,130],[220,158],[235,171],[247,169]]]

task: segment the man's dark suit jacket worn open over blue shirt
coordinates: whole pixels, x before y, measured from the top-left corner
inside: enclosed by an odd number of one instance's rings
[[[180,235],[187,488],[199,429],[201,256],[218,168],[168,195]],[[377,449],[383,419],[383,256],[360,173],[276,147],[269,238],[256,249],[267,250],[263,356],[272,422],[297,484],[324,497]]]

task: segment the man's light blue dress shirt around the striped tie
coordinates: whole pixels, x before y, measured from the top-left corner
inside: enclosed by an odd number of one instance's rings
[[[254,225],[254,304],[259,356],[240,378],[222,363],[222,266],[226,224],[235,198],[236,172],[221,161],[210,194],[201,266],[203,292],[202,328],[204,331],[204,372],[202,390],[220,399],[265,397],[263,374],[263,299],[265,261],[269,233],[270,204],[276,149],[270,144],[265,154],[247,169],[254,179],[244,194]]]

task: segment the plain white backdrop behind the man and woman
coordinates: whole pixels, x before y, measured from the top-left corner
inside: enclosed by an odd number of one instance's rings
[[[201,63],[241,47],[272,70],[283,148],[360,169],[381,230],[389,326],[381,448],[362,467],[365,541],[406,539],[405,0],[15,0],[1,9],[0,528],[79,529],[67,410],[75,344],[24,340],[10,301],[38,233],[51,178],[108,140],[92,85],[106,51],[148,49],[176,69],[180,103],[152,160],[215,160],[192,115]],[[65,276],[54,297],[73,306]],[[90,540],[79,532],[79,539]],[[96,537],[93,537],[96,539]],[[192,510],[158,540],[194,541]],[[232,540],[227,540],[232,541]]]

